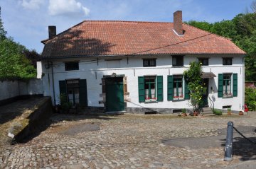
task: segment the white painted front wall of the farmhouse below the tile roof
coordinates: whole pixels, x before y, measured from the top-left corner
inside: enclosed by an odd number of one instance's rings
[[[209,65],[203,66],[203,71],[212,71],[217,77],[211,78],[209,81],[209,88],[213,86],[214,93],[210,93],[213,98],[215,108],[221,109],[225,105],[232,105],[233,110],[240,110],[244,105],[244,69],[242,56],[238,55],[186,55],[184,57],[183,67],[172,67],[171,56],[153,56],[156,58],[156,67],[143,67],[143,58],[150,58],[152,56],[137,56],[137,57],[97,57],[95,58],[80,58],[79,71],[65,71],[64,62],[72,61],[72,59],[61,59],[53,61],[53,77],[55,88],[56,104],[59,103],[59,83],[58,81],[72,78],[87,79],[87,100],[88,106],[102,107],[99,101],[102,100],[100,94],[102,93],[101,78],[104,75],[111,75],[112,73],[124,74],[127,76],[127,90],[129,92],[130,103],[127,107],[155,107],[155,108],[189,108],[191,107],[188,100],[182,101],[168,101],[167,100],[167,76],[172,74],[183,74],[183,71],[188,69],[191,61],[197,60],[198,57],[209,57]],[[232,66],[223,66],[222,57],[233,57]],[[105,60],[107,59],[107,60]],[[109,59],[120,59],[119,61],[108,61]],[[114,64],[118,62],[118,64]],[[42,62],[43,68],[43,95],[53,97],[53,81],[52,81],[52,68],[46,65],[47,62]],[[218,74],[223,73],[237,73],[238,74],[238,97],[234,98],[218,98]],[[138,99],[138,76],[146,75],[159,75],[163,76],[164,83],[164,101],[159,103],[139,103]],[[54,101],[53,101],[54,102]]]

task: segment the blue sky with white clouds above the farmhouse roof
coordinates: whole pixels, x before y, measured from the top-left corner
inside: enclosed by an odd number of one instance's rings
[[[84,20],[173,22],[183,11],[183,21],[230,20],[250,10],[252,0],[0,0],[1,18],[8,36],[28,49],[43,51],[48,25],[57,33]]]

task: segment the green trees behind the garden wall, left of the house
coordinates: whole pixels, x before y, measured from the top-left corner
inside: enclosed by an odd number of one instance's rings
[[[36,77],[36,69],[32,63],[36,63],[36,51],[29,51],[11,37],[6,37],[3,23],[1,21],[0,7],[0,80],[27,80]],[[31,62],[32,61],[32,62]]]

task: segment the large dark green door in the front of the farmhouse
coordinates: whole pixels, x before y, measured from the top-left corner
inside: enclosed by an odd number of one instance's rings
[[[124,111],[124,85],[121,78],[106,78],[107,112]]]

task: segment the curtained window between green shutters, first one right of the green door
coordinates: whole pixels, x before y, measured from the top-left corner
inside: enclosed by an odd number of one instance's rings
[[[145,76],[145,101],[156,101],[156,76]]]

